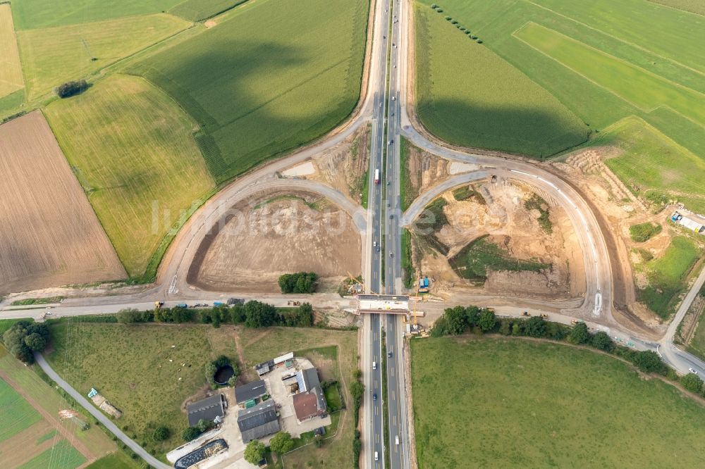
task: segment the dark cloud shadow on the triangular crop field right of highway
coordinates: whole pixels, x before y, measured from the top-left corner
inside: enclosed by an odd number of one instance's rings
[[[587,141],[590,127],[522,107],[468,106],[448,100],[419,100],[419,119],[440,139],[460,146],[508,151],[545,159]]]

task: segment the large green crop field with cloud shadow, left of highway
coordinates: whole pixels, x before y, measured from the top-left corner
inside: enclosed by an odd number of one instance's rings
[[[360,96],[369,1],[257,0],[132,66],[200,124],[223,182],[323,135]]]

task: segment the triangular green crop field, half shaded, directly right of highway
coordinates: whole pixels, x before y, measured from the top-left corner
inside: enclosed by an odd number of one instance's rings
[[[416,15],[417,112],[434,135],[537,158],[587,139],[568,108],[445,15],[424,6]]]

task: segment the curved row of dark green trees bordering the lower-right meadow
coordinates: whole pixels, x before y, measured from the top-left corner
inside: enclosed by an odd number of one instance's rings
[[[689,392],[705,397],[703,381],[697,375],[689,373],[679,376],[655,351],[637,351],[627,346],[616,344],[603,331],[590,332],[587,324],[575,323],[574,326],[553,323],[533,316],[532,318],[497,318],[494,311],[478,306],[455,306],[446,308],[443,315],[436,320],[431,329],[431,337],[458,335],[468,330],[475,334],[498,333],[503,335],[534,337],[565,341],[575,345],[591,346],[594,349],[618,356],[634,364],[643,373],[656,373],[668,380],[680,382]]]

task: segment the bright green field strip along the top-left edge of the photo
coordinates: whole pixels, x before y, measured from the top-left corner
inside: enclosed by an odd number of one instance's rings
[[[12,0],[18,30],[90,23],[121,16],[159,13],[183,0]]]

